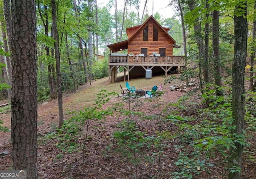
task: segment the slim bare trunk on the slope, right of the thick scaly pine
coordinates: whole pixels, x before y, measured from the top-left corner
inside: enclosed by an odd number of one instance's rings
[[[59,107],[59,129],[64,123],[63,106],[62,106],[62,89],[61,89],[61,77],[60,77],[60,54],[59,54],[59,41],[58,41],[58,29],[57,29],[57,16],[56,16],[56,5],[55,0],[52,0],[52,32],[55,51],[56,61],[56,74],[57,74],[57,86],[58,86],[58,107]]]

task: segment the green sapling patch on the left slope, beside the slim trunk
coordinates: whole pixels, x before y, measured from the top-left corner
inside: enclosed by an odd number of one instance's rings
[[[100,91],[93,106],[86,107],[81,111],[67,111],[72,114],[70,119],[65,120],[61,129],[40,138],[40,143],[48,140],[55,140],[56,147],[63,152],[85,151],[86,142],[91,139],[88,134],[90,127],[97,126],[107,115],[112,115],[114,108],[103,109],[102,105],[110,100],[110,96],[116,93],[107,93],[106,90]],[[82,139],[82,140],[81,140]]]

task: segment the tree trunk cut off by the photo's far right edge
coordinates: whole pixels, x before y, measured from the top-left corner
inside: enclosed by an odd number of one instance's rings
[[[255,46],[256,46],[256,2],[254,2],[253,22],[252,22],[252,52],[251,52],[251,68],[250,68],[250,84],[249,90],[253,90],[253,66],[255,58]]]

